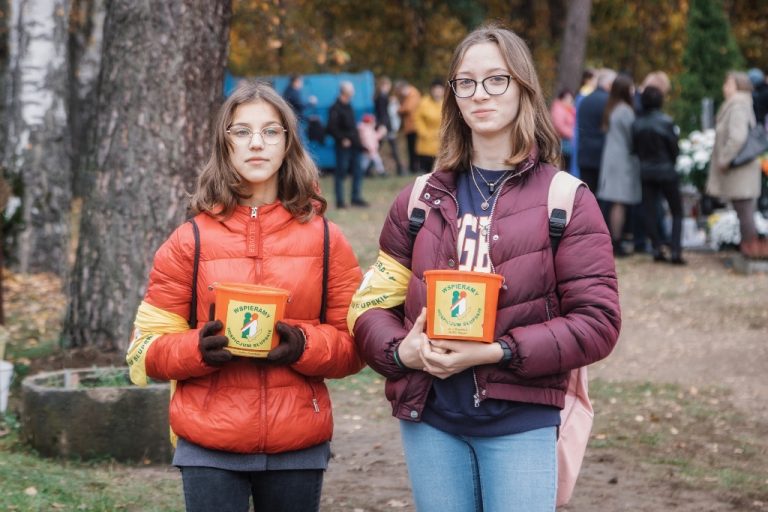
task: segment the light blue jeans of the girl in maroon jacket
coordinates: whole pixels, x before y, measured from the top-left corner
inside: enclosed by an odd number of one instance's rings
[[[557,428],[455,436],[400,421],[419,512],[554,512]]]

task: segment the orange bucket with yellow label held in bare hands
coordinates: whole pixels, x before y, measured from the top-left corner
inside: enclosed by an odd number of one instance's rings
[[[427,336],[493,341],[503,278],[485,272],[427,270]]]

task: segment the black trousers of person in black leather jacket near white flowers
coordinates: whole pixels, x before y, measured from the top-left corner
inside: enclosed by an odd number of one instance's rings
[[[680,237],[683,233],[683,199],[680,196],[680,183],[674,181],[643,181],[643,209],[645,210],[645,230],[651,239],[653,252],[661,251],[661,237],[657,221],[659,195],[664,196],[672,214],[672,236],[669,245],[672,257],[679,257],[682,248]]]

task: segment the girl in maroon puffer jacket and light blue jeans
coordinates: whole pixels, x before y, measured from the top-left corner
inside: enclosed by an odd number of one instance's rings
[[[387,378],[419,511],[553,511],[568,372],[607,356],[619,334],[611,240],[579,187],[556,255],[550,246],[559,141],[517,35],[472,32],[448,78],[439,170],[418,202],[430,214],[413,237],[412,187],[400,193],[348,322]],[[430,269],[504,278],[495,343],[427,337]]]

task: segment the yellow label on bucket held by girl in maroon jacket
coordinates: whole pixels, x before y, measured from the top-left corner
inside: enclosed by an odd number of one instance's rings
[[[485,283],[435,282],[434,332],[482,338]]]

